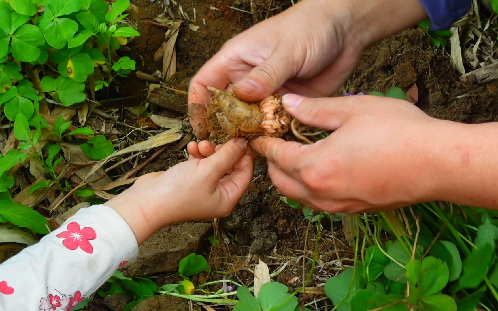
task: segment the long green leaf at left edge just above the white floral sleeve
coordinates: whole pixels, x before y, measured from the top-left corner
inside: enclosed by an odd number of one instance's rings
[[[25,205],[0,199],[0,215],[18,227],[28,228],[36,233],[48,233],[45,217]]]

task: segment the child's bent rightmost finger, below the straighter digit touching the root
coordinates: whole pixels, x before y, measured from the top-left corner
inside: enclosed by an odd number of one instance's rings
[[[253,175],[253,161],[249,152],[235,164],[234,172],[220,181],[220,185],[225,189],[227,200],[230,205],[235,205],[242,198]]]

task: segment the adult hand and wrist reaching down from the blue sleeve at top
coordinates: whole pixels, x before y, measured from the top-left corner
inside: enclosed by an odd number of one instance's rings
[[[390,20],[385,22],[385,16]],[[257,102],[289,92],[332,95],[370,44],[426,17],[418,0],[302,0],[229,40],[192,78],[189,116],[206,136],[208,86]]]

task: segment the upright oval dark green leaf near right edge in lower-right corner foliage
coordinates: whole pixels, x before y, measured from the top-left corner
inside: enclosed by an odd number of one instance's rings
[[[463,288],[477,288],[488,273],[492,255],[493,248],[490,244],[472,250],[463,261],[463,273],[458,284]]]

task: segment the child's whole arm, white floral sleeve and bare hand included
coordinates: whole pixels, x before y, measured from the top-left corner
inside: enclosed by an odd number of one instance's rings
[[[0,310],[71,310],[132,262],[159,228],[228,215],[252,178],[245,142],[232,140],[216,153],[207,142],[188,149],[190,161],[140,177],[1,264]]]

